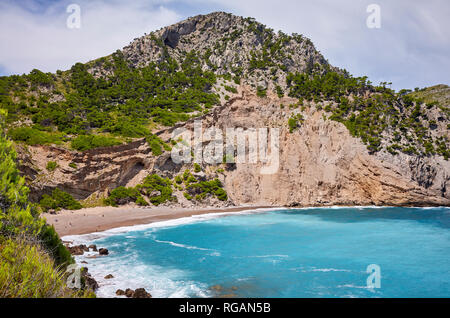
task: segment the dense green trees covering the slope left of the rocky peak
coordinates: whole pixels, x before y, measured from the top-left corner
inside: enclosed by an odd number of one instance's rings
[[[99,69],[107,75],[97,76]],[[208,110],[218,103],[211,92],[215,82],[214,73],[203,72],[193,53],[180,65],[167,55],[158,65],[133,69],[117,51],[67,72],[1,77],[0,104],[8,109],[9,123],[32,121],[10,129],[13,140],[30,145],[71,140],[74,149],[86,150],[120,143],[92,134],[146,137],[151,121],[172,126]]]

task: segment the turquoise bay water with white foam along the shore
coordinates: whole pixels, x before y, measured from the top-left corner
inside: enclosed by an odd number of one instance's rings
[[[155,297],[450,297],[449,208],[278,210],[178,223],[91,241],[110,250],[85,258],[99,295],[144,287]],[[367,287],[370,264],[380,267],[380,288]]]

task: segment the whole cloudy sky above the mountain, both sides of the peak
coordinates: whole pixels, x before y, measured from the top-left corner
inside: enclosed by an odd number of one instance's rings
[[[80,8],[80,28],[67,26],[70,4]],[[367,25],[371,4],[380,28]],[[450,84],[448,0],[0,0],[0,75],[65,70],[213,11],[303,34],[332,65],[375,84]]]

